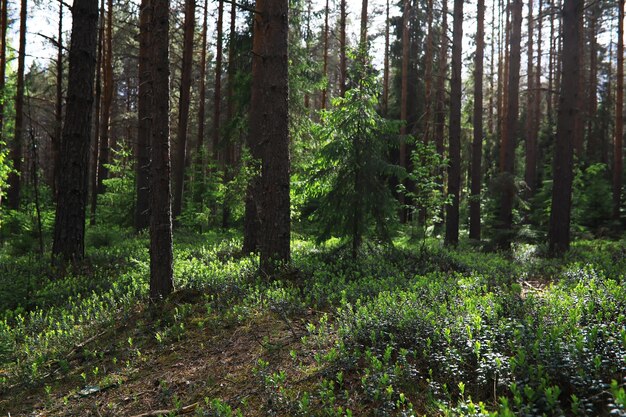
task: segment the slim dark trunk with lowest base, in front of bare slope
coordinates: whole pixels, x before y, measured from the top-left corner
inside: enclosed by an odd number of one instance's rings
[[[169,0],[152,0],[150,74],[150,298],[174,289],[169,137]]]

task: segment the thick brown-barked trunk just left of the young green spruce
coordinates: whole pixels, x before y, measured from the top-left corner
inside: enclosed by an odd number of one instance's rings
[[[250,132],[261,154],[260,268],[290,259],[288,0],[257,0]]]

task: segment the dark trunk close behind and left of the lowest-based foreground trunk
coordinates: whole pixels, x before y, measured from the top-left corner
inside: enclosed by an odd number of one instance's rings
[[[152,137],[152,73],[150,65],[151,0],[142,0],[139,10],[139,88],[137,92],[137,181],[135,230],[150,226],[150,138]]]

